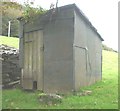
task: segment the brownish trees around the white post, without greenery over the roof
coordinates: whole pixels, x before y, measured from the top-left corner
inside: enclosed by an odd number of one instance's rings
[[[22,15],[22,6],[15,2],[2,2],[2,35],[8,34],[8,22],[11,21],[11,36],[18,36],[17,17]]]

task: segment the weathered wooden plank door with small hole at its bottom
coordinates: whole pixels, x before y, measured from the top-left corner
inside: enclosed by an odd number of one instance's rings
[[[22,86],[24,89],[34,89],[34,87],[36,87],[39,90],[43,90],[42,30],[24,34],[24,67]]]

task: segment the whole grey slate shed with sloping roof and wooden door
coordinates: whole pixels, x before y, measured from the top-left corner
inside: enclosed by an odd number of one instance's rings
[[[65,93],[102,79],[103,39],[75,4],[20,20],[19,37],[23,89]]]

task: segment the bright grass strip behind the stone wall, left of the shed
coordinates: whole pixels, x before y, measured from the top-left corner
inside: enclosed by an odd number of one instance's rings
[[[15,37],[0,36],[0,44],[5,44],[11,47],[19,48],[19,39]]]

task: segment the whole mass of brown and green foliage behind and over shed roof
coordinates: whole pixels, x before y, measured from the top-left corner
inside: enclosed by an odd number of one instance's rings
[[[2,35],[8,34],[8,22],[11,21],[10,36],[18,37],[19,22],[17,18],[22,17],[25,21],[32,19],[38,14],[42,14],[45,10],[42,7],[34,8],[32,4],[25,3],[24,5],[16,2],[2,2]]]

